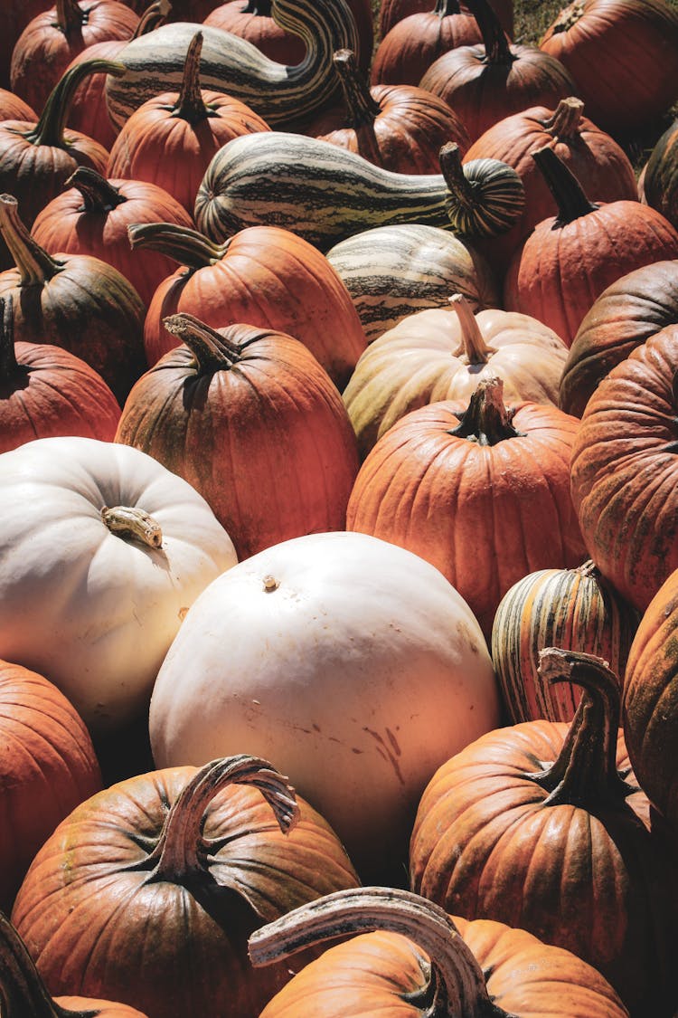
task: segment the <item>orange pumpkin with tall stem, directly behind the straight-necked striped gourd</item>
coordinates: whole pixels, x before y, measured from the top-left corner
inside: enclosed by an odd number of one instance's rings
[[[350,50],[334,54],[334,66],[344,104],[320,114],[305,133],[393,173],[437,173],[445,143],[455,142],[461,152],[469,148],[464,124],[441,99],[409,84],[370,89]]]

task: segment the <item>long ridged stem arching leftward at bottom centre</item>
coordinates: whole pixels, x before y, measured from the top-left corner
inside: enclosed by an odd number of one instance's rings
[[[506,1016],[492,1003],[471,949],[439,905],[410,891],[351,888],[301,905],[255,930],[248,952],[254,966],[347,934],[385,929],[409,938],[430,959],[433,1002],[426,1014],[465,1018]]]

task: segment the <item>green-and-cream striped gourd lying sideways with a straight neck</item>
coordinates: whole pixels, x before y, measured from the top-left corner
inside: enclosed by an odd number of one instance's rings
[[[202,233],[223,241],[246,226],[282,226],[325,251],[375,226],[423,223],[470,239],[507,230],[525,191],[505,163],[461,166],[440,151],[440,174],[392,173],[329,142],[271,131],[237,137],[212,158],[195,201]]]

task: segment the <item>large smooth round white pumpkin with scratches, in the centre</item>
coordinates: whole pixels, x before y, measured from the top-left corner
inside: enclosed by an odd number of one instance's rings
[[[214,580],[168,653],[149,719],[158,767],[271,760],[363,881],[405,880],[424,787],[498,723],[467,603],[418,556],[344,531],[275,545]]]

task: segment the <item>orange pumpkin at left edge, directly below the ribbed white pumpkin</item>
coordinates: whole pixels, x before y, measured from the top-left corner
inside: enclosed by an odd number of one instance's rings
[[[102,787],[83,722],[37,672],[0,661],[0,908],[9,912],[34,855]]]

